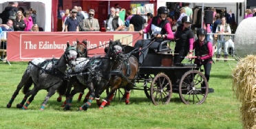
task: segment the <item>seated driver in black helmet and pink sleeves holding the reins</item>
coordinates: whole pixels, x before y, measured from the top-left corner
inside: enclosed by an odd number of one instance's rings
[[[151,43],[151,40],[138,40],[134,47],[142,47],[142,53],[140,54],[139,63],[142,65],[142,62],[144,61],[145,57],[147,56],[147,52],[149,49],[158,49],[158,46],[160,43],[165,39],[172,39],[173,38],[173,32],[171,31],[171,25],[169,21],[167,20],[167,14],[168,9],[167,7],[160,7],[158,8],[158,16],[154,16],[151,21],[149,21],[149,25],[144,30],[140,30],[139,34],[144,34],[152,31],[154,34],[156,34],[154,42]],[[149,45],[149,47],[147,47]],[[147,47],[147,48],[145,48]],[[167,47],[163,46],[163,47]]]

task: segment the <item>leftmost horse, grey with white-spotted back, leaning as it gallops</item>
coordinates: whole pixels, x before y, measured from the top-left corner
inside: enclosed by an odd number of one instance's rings
[[[45,89],[48,93],[40,108],[40,110],[44,110],[47,101],[54,95],[59,86],[67,83],[67,75],[65,74],[65,71],[67,70],[67,65],[70,65],[72,60],[76,60],[77,52],[75,48],[76,46],[70,46],[70,43],[67,42],[67,48],[61,58],[53,58],[52,60],[35,58],[30,61],[27,69],[23,73],[21,82],[19,82],[16,91],[14,91],[12,98],[7,104],[7,108],[12,106],[12,102],[23,87],[25,97],[20,104],[17,104],[17,108],[22,108],[24,110],[28,109],[28,106],[33,101],[36,93],[41,89]],[[34,84],[34,87],[32,90],[29,90],[32,84]],[[30,95],[32,96],[30,97]],[[28,99],[28,102],[26,102],[28,97],[30,98]]]

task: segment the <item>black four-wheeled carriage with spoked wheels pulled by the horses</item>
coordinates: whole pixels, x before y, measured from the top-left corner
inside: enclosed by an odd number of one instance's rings
[[[149,49],[143,65],[139,68],[136,82],[142,82],[143,86],[134,86],[135,90],[145,91],[145,95],[151,99],[154,105],[168,104],[172,93],[178,93],[184,104],[202,104],[209,91],[203,69],[192,63],[174,65],[174,51],[166,44],[173,40],[164,40],[158,49]],[[125,46],[125,53],[132,51],[134,47]],[[138,53],[134,56],[138,58]],[[118,90],[122,94],[122,91]]]

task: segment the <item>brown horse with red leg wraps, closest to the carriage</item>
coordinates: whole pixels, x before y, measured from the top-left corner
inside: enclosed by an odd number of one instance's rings
[[[127,50],[128,49],[131,48],[127,46]],[[125,53],[127,53],[127,51],[125,51]],[[129,93],[135,85],[134,78],[136,78],[139,71],[139,63],[136,54],[138,54],[138,52],[129,52],[128,54],[125,54],[124,60],[122,62],[116,62],[112,67],[111,78],[107,85],[107,88],[111,87],[111,91],[107,94],[107,97],[103,99],[101,104],[98,102],[98,105],[100,104],[100,109],[104,108],[105,105],[110,105],[114,93],[121,87],[125,89],[125,94],[123,96],[125,97],[125,103],[129,104]]]

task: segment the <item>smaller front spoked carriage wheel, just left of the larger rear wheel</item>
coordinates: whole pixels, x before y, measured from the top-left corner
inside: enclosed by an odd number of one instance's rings
[[[150,95],[153,104],[168,104],[171,99],[171,93],[171,80],[166,74],[158,73],[158,75],[153,79],[150,88]]]

